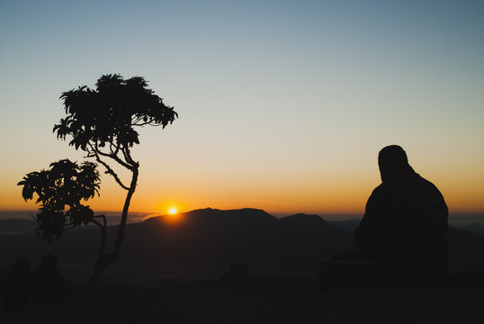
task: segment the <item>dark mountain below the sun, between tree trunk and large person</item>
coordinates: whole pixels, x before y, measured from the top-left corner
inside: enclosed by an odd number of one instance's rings
[[[353,246],[351,233],[316,215],[276,219],[255,209],[206,209],[181,217],[177,224],[159,217],[131,225],[125,246],[157,248],[125,248],[121,263],[159,266],[160,273],[179,276],[213,277],[235,262],[257,275],[317,275],[323,260]]]

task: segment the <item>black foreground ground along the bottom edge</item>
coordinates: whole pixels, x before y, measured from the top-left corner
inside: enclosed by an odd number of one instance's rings
[[[309,278],[107,283],[88,306],[2,308],[0,323],[482,323],[482,275],[461,275],[442,290],[349,284],[319,292]]]

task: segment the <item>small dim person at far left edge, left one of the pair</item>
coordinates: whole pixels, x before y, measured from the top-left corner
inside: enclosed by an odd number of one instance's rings
[[[31,264],[23,257],[18,257],[13,265],[12,274],[2,287],[5,306],[10,310],[20,310],[24,307],[31,293]]]

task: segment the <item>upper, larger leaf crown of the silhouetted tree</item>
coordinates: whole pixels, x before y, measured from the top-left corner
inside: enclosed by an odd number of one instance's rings
[[[166,127],[178,114],[173,107],[148,88],[141,76],[123,79],[120,75],[101,76],[95,89],[80,86],[63,93],[67,117],[54,126],[58,139],[72,136],[69,145],[90,151],[92,146],[131,148],[139,144],[136,126]]]

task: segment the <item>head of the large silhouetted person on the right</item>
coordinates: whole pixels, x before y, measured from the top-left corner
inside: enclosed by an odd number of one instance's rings
[[[378,154],[381,181],[387,181],[392,175],[401,175],[411,170],[407,153],[398,145],[381,148]]]

